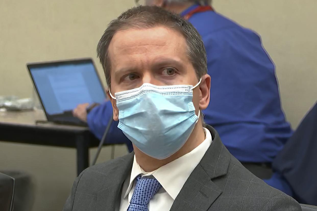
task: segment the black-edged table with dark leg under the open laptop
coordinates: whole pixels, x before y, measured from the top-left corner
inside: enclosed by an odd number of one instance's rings
[[[97,147],[99,140],[87,127],[35,124],[36,120],[43,119],[41,110],[1,112],[0,141],[76,148],[79,175],[89,166],[89,148]]]

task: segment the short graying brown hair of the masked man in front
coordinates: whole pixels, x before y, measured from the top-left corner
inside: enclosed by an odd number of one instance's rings
[[[160,7],[138,6],[126,10],[117,19],[111,21],[98,43],[97,55],[109,88],[111,88],[111,61],[108,48],[114,34],[128,28],[147,29],[156,26],[165,26],[181,33],[187,42],[188,57],[197,78],[200,79],[207,73],[207,57],[203,40],[190,22]]]

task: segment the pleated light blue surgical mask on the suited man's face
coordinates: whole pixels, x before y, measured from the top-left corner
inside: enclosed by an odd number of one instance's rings
[[[164,159],[188,140],[198,116],[192,102],[192,85],[141,87],[115,93],[122,132],[142,152]]]

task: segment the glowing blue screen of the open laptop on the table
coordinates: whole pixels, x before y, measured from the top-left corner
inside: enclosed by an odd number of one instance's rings
[[[30,68],[49,115],[73,110],[81,103],[102,103],[105,93],[91,62]]]

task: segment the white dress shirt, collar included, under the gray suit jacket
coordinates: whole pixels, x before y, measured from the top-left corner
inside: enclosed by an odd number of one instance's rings
[[[206,128],[204,130],[206,132],[205,140],[199,146],[155,171],[145,172],[136,162],[134,156],[131,175],[123,183],[119,211],[128,209],[136,185],[134,180],[140,174],[142,177],[155,177],[162,185],[150,200],[148,204],[149,211],[170,210],[184,183],[212,143],[210,131]]]

